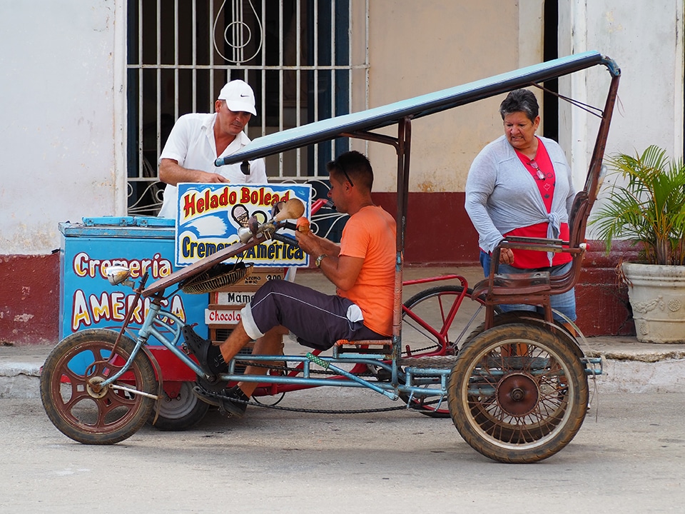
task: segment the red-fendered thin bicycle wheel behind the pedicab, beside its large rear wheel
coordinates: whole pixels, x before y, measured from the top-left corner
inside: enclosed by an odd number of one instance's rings
[[[452,321],[442,336],[450,309],[457,298],[462,295],[462,286],[437,286],[420,291],[405,301],[405,307],[419,319],[413,318],[407,312],[402,313],[402,357],[425,358],[427,356],[455,355],[457,353],[457,338],[462,328],[471,321],[472,316],[482,306],[478,298],[474,300],[471,289],[467,288],[462,304],[457,311],[455,320]],[[484,311],[479,319],[484,317]],[[476,321],[477,323],[477,321]],[[406,362],[406,359],[403,359]],[[445,359],[446,368],[452,368],[454,361]],[[440,363],[431,364],[432,367],[440,367]],[[440,384],[427,384],[426,388],[440,388]],[[412,398],[407,393],[400,393],[400,398],[405,403],[410,403],[412,408],[420,410],[420,413],[431,418],[449,418],[450,409],[447,399],[436,396],[424,398]]]

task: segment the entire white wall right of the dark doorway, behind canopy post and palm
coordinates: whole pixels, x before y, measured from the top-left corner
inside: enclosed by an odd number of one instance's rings
[[[559,17],[560,55],[597,50],[621,68],[605,154],[641,152],[657,144],[669,155],[681,156],[682,0],[560,2]],[[609,74],[587,71],[560,82],[560,88],[575,99],[603,106],[608,84]],[[576,186],[582,187],[599,121],[565,104],[560,114],[560,143],[572,159]]]

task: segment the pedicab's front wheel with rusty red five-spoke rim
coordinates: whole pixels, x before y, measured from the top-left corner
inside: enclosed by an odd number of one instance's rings
[[[106,445],[131,437],[146,422],[155,400],[121,389],[96,390],[121,368],[135,343],[122,337],[113,353],[117,333],[89,329],[57,343],[41,373],[41,400],[55,427],[83,444]],[[157,394],[155,371],[140,352],[116,381],[129,389]]]

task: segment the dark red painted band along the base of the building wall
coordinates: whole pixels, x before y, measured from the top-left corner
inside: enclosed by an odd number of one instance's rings
[[[395,193],[374,193],[393,216]],[[478,238],[464,210],[464,193],[410,193],[405,234],[407,266],[477,265]],[[635,258],[626,243],[607,256],[599,241],[576,286],[578,325],[586,336],[635,333],[626,287],[617,281],[619,258]],[[0,344],[56,343],[59,337],[59,253],[0,256]]]

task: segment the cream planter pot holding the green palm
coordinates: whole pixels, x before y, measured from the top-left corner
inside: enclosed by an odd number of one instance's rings
[[[643,343],[685,343],[685,266],[623,263],[635,331]]]

